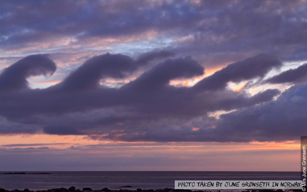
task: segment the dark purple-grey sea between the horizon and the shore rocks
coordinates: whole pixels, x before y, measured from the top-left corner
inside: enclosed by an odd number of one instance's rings
[[[48,172],[51,175],[3,175],[0,188],[47,190],[75,186],[76,189],[104,187],[113,190],[174,188],[175,180],[301,180],[300,172],[267,171],[28,171]],[[130,185],[125,188],[120,186]]]

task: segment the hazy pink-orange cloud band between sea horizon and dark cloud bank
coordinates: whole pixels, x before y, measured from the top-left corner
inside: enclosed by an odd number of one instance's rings
[[[272,149],[271,145],[260,148],[259,144],[237,145],[234,143],[124,143],[126,145],[87,145],[67,149],[50,148],[41,149],[1,149],[2,171],[191,171],[210,168],[210,171],[291,171],[295,170],[296,158],[287,158],[282,163],[276,164],[271,159],[276,159],[286,154],[296,156],[297,149]],[[132,146],[131,146],[132,145]],[[156,145],[156,146],[154,146]],[[273,145],[274,146],[274,145]],[[280,144],[280,146],[284,146]],[[27,152],[29,151],[29,152]],[[35,157],[33,158],[33,153]],[[131,155],[133,154],[133,155]],[[171,154],[171,155],[170,155]],[[78,158],[72,158],[74,156]],[[58,160],[54,160],[54,157]],[[227,157],[225,159],[225,156]],[[250,158],[245,158],[249,156]],[[263,156],[259,160],[259,156]],[[19,161],[12,159],[22,159]],[[252,162],[251,162],[252,161]],[[176,163],[174,163],[176,162]],[[229,166],[231,164],[232,166]],[[221,165],[223,165],[221,167]],[[289,165],[292,165],[289,167]],[[183,169],[184,168],[184,169]],[[125,173],[129,176],[129,173]],[[295,179],[297,174],[292,174]],[[252,177],[252,176],[251,176]],[[89,180],[84,180],[80,185],[88,185]],[[225,176],[225,179],[226,176]],[[167,181],[167,183],[172,183]],[[171,184],[170,184],[171,185]],[[58,186],[55,186],[58,187]],[[158,186],[157,186],[158,187]],[[101,187],[100,187],[101,188]]]

